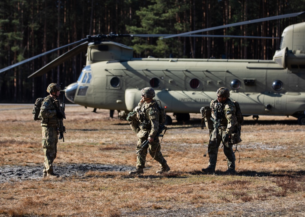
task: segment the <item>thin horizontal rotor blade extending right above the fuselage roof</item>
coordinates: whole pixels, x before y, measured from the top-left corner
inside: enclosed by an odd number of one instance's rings
[[[171,34],[134,34],[132,37],[165,37],[172,36]],[[279,39],[278,37],[263,37],[263,36],[232,36],[232,35],[183,35],[181,37],[216,37],[216,38],[257,38],[257,39]]]

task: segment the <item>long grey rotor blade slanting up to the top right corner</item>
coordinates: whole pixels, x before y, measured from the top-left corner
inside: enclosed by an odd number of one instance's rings
[[[232,27],[232,26],[241,26],[241,25],[246,25],[246,24],[250,24],[250,23],[257,23],[257,22],[264,22],[264,21],[274,20],[274,19],[283,19],[283,18],[288,18],[288,17],[295,17],[295,16],[298,16],[302,13],[304,13],[304,12],[285,14],[285,15],[279,15],[279,16],[272,16],[272,17],[265,17],[265,18],[253,19],[253,20],[248,20],[248,21],[243,21],[243,22],[236,22],[236,23],[222,25],[222,26],[215,26],[215,27],[206,28],[206,29],[199,29],[199,30],[195,30],[195,31],[187,32],[187,33],[180,33],[180,34],[176,34],[176,35],[165,36],[163,38],[179,37],[179,36],[184,36],[184,35],[188,35],[188,34],[207,32],[207,31],[212,31],[212,30],[216,30],[216,29],[223,29],[223,28]]]

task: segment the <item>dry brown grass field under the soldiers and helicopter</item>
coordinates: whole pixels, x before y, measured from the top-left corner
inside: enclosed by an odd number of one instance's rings
[[[293,117],[245,118],[235,175],[204,175],[208,132],[200,114],[168,130],[161,151],[171,170],[135,168],[137,138],[109,111],[67,105],[65,141],[54,161],[58,179],[42,178],[41,127],[32,105],[0,105],[1,216],[305,216],[305,126]],[[172,115],[172,114],[170,114]],[[235,150],[235,149],[234,149]],[[148,155],[148,161],[152,158]]]

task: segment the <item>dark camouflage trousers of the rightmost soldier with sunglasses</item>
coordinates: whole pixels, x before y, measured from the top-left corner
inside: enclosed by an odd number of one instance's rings
[[[208,168],[211,168],[215,170],[216,163],[217,163],[217,155],[218,155],[218,148],[222,141],[222,137],[225,134],[225,131],[222,129],[218,130],[218,134],[216,136],[216,130],[214,129],[213,132],[210,134],[210,142],[208,146],[208,153],[209,153],[209,164]],[[228,169],[234,169],[235,170],[235,154],[232,149],[233,145],[228,144],[228,146],[224,145],[224,155],[227,157],[228,162]]]

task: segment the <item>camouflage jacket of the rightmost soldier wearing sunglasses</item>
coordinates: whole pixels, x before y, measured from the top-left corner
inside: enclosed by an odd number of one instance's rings
[[[210,106],[212,108],[214,123],[219,121],[219,128],[225,130],[227,134],[231,135],[237,126],[234,102],[232,102],[230,98],[223,103],[218,102],[217,99],[213,99]],[[217,119],[215,117],[216,112]]]

